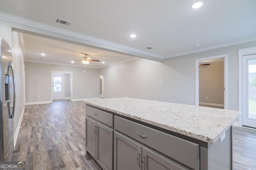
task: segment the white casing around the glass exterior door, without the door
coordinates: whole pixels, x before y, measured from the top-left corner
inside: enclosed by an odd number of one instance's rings
[[[244,55],[256,54],[256,47],[238,49],[238,111],[242,112],[242,58]],[[239,126],[242,126],[242,116],[238,120]]]

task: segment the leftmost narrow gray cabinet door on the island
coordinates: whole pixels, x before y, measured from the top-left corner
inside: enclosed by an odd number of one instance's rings
[[[90,117],[86,117],[86,151],[95,159],[96,155],[96,121]]]

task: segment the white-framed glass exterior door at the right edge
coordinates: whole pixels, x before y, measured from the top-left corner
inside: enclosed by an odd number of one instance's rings
[[[256,128],[256,54],[242,58],[242,125]]]

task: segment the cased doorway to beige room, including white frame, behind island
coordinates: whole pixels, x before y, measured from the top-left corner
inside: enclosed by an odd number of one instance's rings
[[[196,106],[228,109],[227,59],[228,55],[196,59]],[[223,71],[216,73],[214,69]]]

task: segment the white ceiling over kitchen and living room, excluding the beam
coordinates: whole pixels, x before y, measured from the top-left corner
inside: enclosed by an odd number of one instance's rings
[[[256,40],[256,0],[204,0],[202,8],[192,9],[194,1],[0,0],[0,12],[153,53],[163,59]],[[56,23],[55,17],[71,24]],[[130,38],[131,33],[137,37]],[[38,56],[33,59],[34,54],[29,54],[48,48],[52,51],[51,57],[62,56],[65,61],[72,57],[82,58],[80,53],[88,53],[92,59],[105,62],[115,55],[116,62],[130,59],[88,47],[23,36],[26,60],[38,60]],[[34,42],[38,42],[38,47]],[[47,56],[44,60],[48,62],[46,59]],[[56,62],[60,61],[57,58]]]

